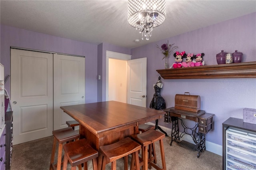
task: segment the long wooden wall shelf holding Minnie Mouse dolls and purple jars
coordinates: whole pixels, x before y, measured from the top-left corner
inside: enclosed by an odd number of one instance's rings
[[[156,70],[163,79],[208,79],[256,77],[256,61]]]

